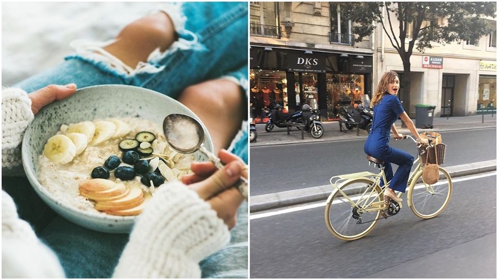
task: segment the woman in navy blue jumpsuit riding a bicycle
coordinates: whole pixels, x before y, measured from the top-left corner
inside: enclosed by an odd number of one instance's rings
[[[365,153],[384,162],[387,182],[391,181],[389,188],[384,191],[384,196],[393,199],[395,202],[403,200],[398,198],[394,191],[405,192],[413,164],[413,156],[409,153],[389,147],[391,130],[395,139],[403,139],[403,134],[398,133],[394,125],[398,116],[418,139],[418,142],[428,144],[427,139],[420,137],[412,120],[401,106],[399,99],[396,97],[398,90],[399,78],[396,72],[384,73],[380,78],[370,104],[370,106],[373,106],[374,111],[372,129],[363,148]],[[391,163],[399,166],[394,176]],[[380,182],[380,186],[382,185],[384,185],[384,182]]]

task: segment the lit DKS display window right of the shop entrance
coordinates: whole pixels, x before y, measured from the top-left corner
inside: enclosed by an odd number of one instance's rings
[[[327,74],[327,119],[333,121],[344,105],[356,106],[365,94],[365,76]]]

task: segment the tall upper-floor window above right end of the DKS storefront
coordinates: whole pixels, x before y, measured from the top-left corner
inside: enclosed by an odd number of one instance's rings
[[[330,3],[330,43],[347,44],[353,43],[351,34],[351,21],[341,14],[341,5]]]

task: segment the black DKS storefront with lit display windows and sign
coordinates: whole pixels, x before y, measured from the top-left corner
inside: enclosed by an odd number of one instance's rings
[[[280,104],[284,111],[309,104],[322,121],[337,119],[340,107],[371,95],[372,54],[251,46],[254,114]]]

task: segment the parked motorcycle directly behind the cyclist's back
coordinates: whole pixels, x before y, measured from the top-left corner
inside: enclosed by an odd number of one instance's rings
[[[369,105],[370,97],[365,94],[361,97],[361,103],[358,104],[356,108],[351,105],[342,106],[339,118],[349,130],[357,125],[360,129],[365,129],[370,133],[373,110],[370,109]]]

